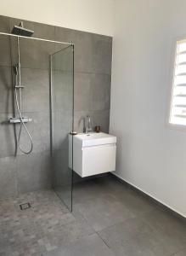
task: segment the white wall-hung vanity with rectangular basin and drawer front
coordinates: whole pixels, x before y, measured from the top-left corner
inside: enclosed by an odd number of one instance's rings
[[[69,162],[71,163],[71,135],[69,136],[69,149]],[[104,132],[80,133],[73,136],[73,170],[81,177],[115,171],[116,137]]]

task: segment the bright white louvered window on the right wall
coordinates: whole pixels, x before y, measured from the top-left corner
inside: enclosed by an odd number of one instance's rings
[[[186,40],[177,42],[169,121],[173,125],[186,125]]]

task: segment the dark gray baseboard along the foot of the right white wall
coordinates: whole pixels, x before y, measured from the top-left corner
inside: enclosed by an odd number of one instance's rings
[[[118,174],[114,173],[114,172],[110,172],[110,175],[116,177],[117,180],[119,180],[121,183],[125,183],[127,184],[127,186],[129,186],[130,188],[134,189],[135,191],[137,191],[138,193],[148,197],[148,199],[150,201],[154,201],[155,204],[157,204],[158,206],[161,206],[161,208],[163,208],[164,210],[171,212],[172,215],[181,218],[184,222],[186,222],[186,216],[183,215],[183,213],[178,212],[177,210],[173,209],[172,207],[167,206],[164,202],[158,200],[157,198],[155,198],[155,196],[149,195],[148,193],[144,192],[144,190],[139,189],[136,185],[128,182],[127,180],[125,180],[124,178],[120,177]]]

